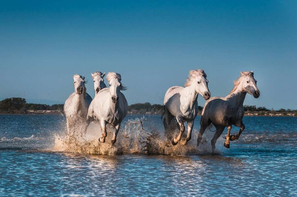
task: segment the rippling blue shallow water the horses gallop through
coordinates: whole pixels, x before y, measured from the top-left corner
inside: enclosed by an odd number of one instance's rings
[[[141,117],[126,117],[114,147],[107,140],[63,149],[63,116],[0,115],[0,196],[297,195],[296,117],[244,117],[240,140],[226,149],[222,136],[216,155],[211,131],[195,146],[200,117],[189,145],[174,147],[166,146],[159,116],[145,116],[143,129]],[[91,127],[88,140],[97,143]],[[94,150],[120,155],[86,154]]]

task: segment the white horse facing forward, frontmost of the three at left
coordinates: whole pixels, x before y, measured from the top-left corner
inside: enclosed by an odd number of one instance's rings
[[[106,78],[109,88],[104,88],[98,92],[93,100],[93,108],[88,112],[88,119],[90,119],[90,116],[91,119],[99,120],[102,128],[102,137],[99,138],[99,142],[102,143],[105,142],[107,136],[106,124],[109,123],[115,127],[111,139],[111,143],[114,144],[128,108],[127,100],[120,90],[126,90],[127,88],[121,84],[121,75],[118,73],[107,73]]]

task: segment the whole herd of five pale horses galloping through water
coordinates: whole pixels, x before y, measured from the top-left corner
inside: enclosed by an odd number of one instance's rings
[[[192,70],[184,87],[170,87],[164,97],[164,113],[162,114],[165,136],[170,138],[175,129],[179,129],[179,134],[171,140],[176,145],[185,131],[184,122],[187,122],[187,137],[182,141],[186,145],[191,140],[194,120],[198,113],[198,94],[206,101],[200,119],[200,130],[197,138],[197,146],[202,140],[205,130],[214,125],[216,128],[214,137],[211,140],[212,152],[215,150],[217,139],[221,136],[225,127],[228,128],[224,146],[230,148],[230,141],[238,140],[245,126],[242,122],[244,116],[243,102],[246,94],[255,98],[260,96],[257,88],[257,81],[254,72],[240,72],[240,77],[234,81],[234,87],[226,97],[210,97],[208,80],[203,70]],[[109,87],[104,83],[105,73],[91,73],[94,82],[95,97],[86,93],[85,77],[73,76],[74,90],[64,105],[64,113],[67,119],[68,136],[74,132],[86,134],[90,122],[98,121],[102,128],[102,137],[99,142],[104,143],[107,136],[106,125],[110,124],[113,129],[111,143],[116,142],[121,122],[127,115],[128,103],[121,92],[127,88],[121,83],[119,73],[107,73],[106,79]],[[177,122],[177,124],[176,124]],[[230,135],[232,125],[239,127],[236,135]]]

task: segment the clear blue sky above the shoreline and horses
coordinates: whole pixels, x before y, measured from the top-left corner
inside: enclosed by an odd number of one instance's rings
[[[116,71],[129,104],[161,104],[189,70],[212,96],[253,70],[244,104],[297,108],[297,1],[1,1],[0,39],[1,99],[64,103],[76,73],[93,97],[90,73]]]

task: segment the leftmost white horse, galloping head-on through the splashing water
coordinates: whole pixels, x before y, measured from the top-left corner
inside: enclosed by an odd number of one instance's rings
[[[86,117],[91,96],[86,93],[85,77],[73,75],[74,92],[69,96],[64,104],[64,114],[67,120],[68,136],[70,134],[85,134],[87,130]]]

